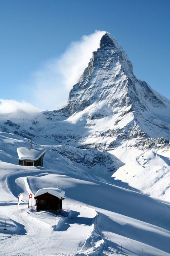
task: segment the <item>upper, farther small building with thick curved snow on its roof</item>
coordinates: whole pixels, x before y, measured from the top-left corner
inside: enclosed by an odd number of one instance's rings
[[[44,148],[17,148],[19,165],[43,166]]]

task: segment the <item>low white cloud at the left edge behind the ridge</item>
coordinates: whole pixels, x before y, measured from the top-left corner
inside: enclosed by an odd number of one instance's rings
[[[39,112],[39,109],[34,107],[32,104],[22,101],[18,102],[16,100],[5,100],[0,99],[0,113],[12,113],[17,111],[25,112]]]

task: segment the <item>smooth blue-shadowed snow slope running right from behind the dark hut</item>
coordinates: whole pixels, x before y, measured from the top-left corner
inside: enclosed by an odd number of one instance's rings
[[[122,251],[126,253],[128,253],[129,246],[136,247],[130,255],[140,252],[139,244],[143,250],[145,249],[146,255],[153,255],[151,253],[153,250],[155,255],[166,255],[162,250],[170,250],[168,245],[170,226],[167,225],[170,208],[164,204],[140,193],[100,181],[94,182],[94,180],[86,178],[80,180],[76,175],[53,174],[37,179],[36,177],[29,178],[29,184],[33,191],[39,186],[38,182],[41,184],[40,186],[43,186],[48,183],[55,184],[55,180],[59,180],[60,187],[66,191],[66,195],[71,195],[70,198],[67,196],[65,202],[88,203],[93,208],[96,206],[96,211],[99,213],[97,224],[100,226],[98,235],[106,241],[107,230],[113,233],[114,236],[110,236],[111,241],[109,240],[109,243],[112,242],[112,247],[114,241],[118,242],[118,250],[124,243]],[[87,198],[89,198],[89,202],[86,202]],[[125,240],[124,237],[126,237]]]

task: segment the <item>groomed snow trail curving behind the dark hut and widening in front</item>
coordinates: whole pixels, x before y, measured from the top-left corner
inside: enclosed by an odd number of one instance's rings
[[[28,184],[28,176],[25,174],[28,175],[28,171],[23,169],[8,175],[5,182],[8,190],[5,187],[4,190],[15,197],[23,193],[24,201],[28,201],[28,194],[32,191]],[[29,175],[43,176],[44,170],[33,170]],[[17,210],[15,203],[0,204],[0,215],[16,225],[15,234],[10,232],[10,228],[6,234],[0,233],[1,256],[75,255],[84,250],[84,245],[94,228],[93,222],[96,215],[94,210],[69,205],[69,217],[59,218],[57,215],[47,213],[43,221],[36,212],[32,213],[27,207],[28,205],[20,205]],[[57,219],[61,220],[59,225],[55,226]]]

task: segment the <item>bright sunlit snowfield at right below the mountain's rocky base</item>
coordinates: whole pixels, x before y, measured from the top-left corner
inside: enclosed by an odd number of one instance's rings
[[[120,150],[110,153],[117,155]],[[130,160],[129,154],[132,154]],[[115,184],[121,180],[151,197],[170,201],[170,158],[163,154],[152,151],[143,153],[135,149],[122,150],[121,159],[126,155],[127,160],[124,158],[125,165],[112,175]],[[165,155],[168,155],[167,152]]]

